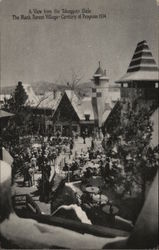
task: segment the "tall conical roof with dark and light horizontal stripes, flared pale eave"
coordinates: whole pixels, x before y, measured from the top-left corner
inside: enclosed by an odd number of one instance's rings
[[[158,78],[159,68],[157,67],[147,42],[144,40],[137,44],[127,73],[116,82],[158,82]]]

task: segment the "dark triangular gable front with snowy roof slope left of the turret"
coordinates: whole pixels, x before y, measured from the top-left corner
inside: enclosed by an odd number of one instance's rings
[[[77,97],[74,91],[66,90],[53,113],[54,133],[59,131],[63,136],[72,133],[82,134],[94,129],[94,116],[91,99]]]

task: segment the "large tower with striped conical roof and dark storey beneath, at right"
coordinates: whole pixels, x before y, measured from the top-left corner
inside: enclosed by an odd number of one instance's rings
[[[121,85],[122,98],[137,94],[144,103],[158,101],[159,68],[145,40],[137,44],[126,74],[116,83]]]

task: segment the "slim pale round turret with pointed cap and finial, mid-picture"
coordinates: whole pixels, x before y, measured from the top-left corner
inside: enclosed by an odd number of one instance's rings
[[[106,70],[99,67],[92,78],[92,106],[94,110],[95,125],[102,126],[102,116],[105,110],[105,103],[108,99],[109,78],[106,76]]]

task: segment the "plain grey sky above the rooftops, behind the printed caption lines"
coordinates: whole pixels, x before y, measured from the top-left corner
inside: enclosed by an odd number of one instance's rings
[[[158,63],[156,0],[2,0],[1,86],[18,81],[62,84],[72,72],[81,82],[101,62],[110,82],[127,71],[138,42],[146,40]],[[13,20],[29,9],[81,10],[106,14],[93,20]],[[53,14],[54,15],[54,14]]]

